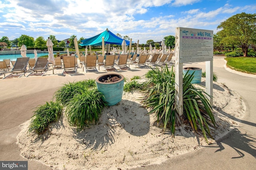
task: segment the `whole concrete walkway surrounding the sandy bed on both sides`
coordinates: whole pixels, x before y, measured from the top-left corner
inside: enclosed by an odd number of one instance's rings
[[[190,64],[186,64],[189,66]],[[205,68],[204,63],[193,66]],[[224,68],[223,57],[214,57],[214,72],[218,82],[238,92],[246,104],[246,115],[241,123],[217,144],[188,154],[170,158],[160,165],[138,167],[144,170],[162,169],[256,169],[256,76],[244,76]],[[131,78],[142,76],[147,69],[121,72]],[[96,78],[102,72],[77,76],[43,76],[0,80],[0,160],[26,160],[16,145],[19,125],[30,119],[36,106],[52,100],[54,92],[66,82]],[[218,100],[218,99],[215,99]],[[29,170],[50,170],[35,160],[28,160]]]

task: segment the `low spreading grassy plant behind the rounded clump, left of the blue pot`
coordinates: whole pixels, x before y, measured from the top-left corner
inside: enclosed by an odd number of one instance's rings
[[[56,101],[65,105],[68,103],[76,94],[82,94],[87,88],[96,87],[96,82],[93,79],[69,82],[64,84],[54,93]]]

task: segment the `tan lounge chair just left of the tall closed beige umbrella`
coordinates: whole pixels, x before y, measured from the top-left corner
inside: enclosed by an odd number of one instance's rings
[[[36,60],[35,66],[32,69],[32,72],[30,74],[33,73],[33,75],[35,76],[43,76],[47,70],[48,70],[49,66],[48,66],[48,58],[46,57],[39,57]],[[38,72],[41,72],[40,74],[38,74]],[[43,73],[44,72],[44,73]],[[28,74],[27,76],[29,76],[30,74]]]

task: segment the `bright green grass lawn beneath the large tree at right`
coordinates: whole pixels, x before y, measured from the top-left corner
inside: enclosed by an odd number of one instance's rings
[[[256,57],[227,57],[227,66],[233,70],[256,74]]]

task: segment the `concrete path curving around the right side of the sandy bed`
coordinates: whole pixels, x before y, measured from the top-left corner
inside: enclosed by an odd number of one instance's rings
[[[192,65],[205,69],[204,63]],[[214,57],[213,71],[218,75],[218,82],[238,92],[245,102],[246,114],[241,123],[215,145],[173,157],[160,165],[136,169],[256,170],[256,75],[236,74],[224,65],[223,57]]]

